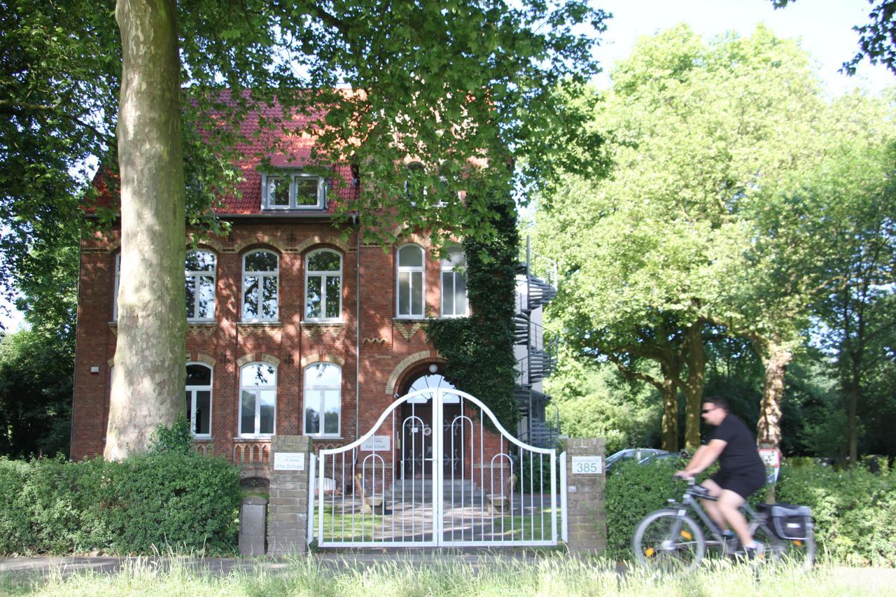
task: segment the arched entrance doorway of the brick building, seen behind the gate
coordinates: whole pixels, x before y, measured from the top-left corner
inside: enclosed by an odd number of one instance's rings
[[[411,371],[401,385],[399,395],[403,396],[418,390],[434,390],[436,388],[453,390],[454,385],[445,379],[442,368],[437,363],[426,364],[423,368]],[[434,392],[435,394],[435,392]],[[401,427],[398,430],[401,444],[401,477],[427,478],[433,474],[433,407],[432,397],[421,394],[401,405]],[[461,414],[460,399],[451,394],[444,396],[443,437],[444,437],[444,472],[457,471],[463,459],[463,446],[459,437],[454,437],[460,428],[452,422]]]

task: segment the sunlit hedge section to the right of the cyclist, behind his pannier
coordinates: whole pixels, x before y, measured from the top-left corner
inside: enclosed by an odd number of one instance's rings
[[[786,464],[780,502],[812,508],[821,557],[857,566],[896,566],[896,474],[816,463]]]

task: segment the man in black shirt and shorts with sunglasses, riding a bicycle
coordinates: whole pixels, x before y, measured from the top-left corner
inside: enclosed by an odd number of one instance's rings
[[[676,472],[676,477],[694,477],[719,461],[719,472],[701,483],[717,501],[700,501],[726,536],[731,536],[730,527],[737,533],[745,556],[754,558],[762,552],[762,545],[754,541],[740,506],[765,484],[765,465],[756,449],[756,438],[744,421],[728,412],[724,398],[704,399],[702,417],[714,427],[710,440],[697,448],[694,458],[683,471]]]

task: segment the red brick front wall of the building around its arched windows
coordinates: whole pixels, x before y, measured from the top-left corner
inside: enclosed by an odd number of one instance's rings
[[[419,373],[419,367],[441,362],[426,342],[422,320],[395,318],[394,250],[383,253],[378,246],[358,247],[354,235],[342,241],[329,221],[268,220],[234,221],[228,237],[201,244],[217,256],[215,320],[191,324],[186,336],[186,358],[208,363],[213,370],[212,438],[202,441],[203,451],[243,463],[246,475],[267,474],[270,442],[237,437],[240,359],[277,364],[278,435],[303,432],[303,367],[318,360],[340,364],[342,439],[323,438],[315,441],[317,447],[338,446],[353,441],[357,432],[365,433],[392,402],[394,392]],[[426,247],[425,239],[414,240]],[[340,324],[303,322],[304,259],[323,247],[342,255]],[[72,437],[76,460],[101,454],[105,441],[110,367],[116,346],[112,305],[118,248],[116,230],[82,243]],[[242,259],[254,248],[267,248],[280,256],[277,324],[241,322]],[[426,312],[436,315],[439,262],[428,251],[426,255]],[[413,367],[407,362],[411,357]],[[403,372],[398,378],[396,368]]]

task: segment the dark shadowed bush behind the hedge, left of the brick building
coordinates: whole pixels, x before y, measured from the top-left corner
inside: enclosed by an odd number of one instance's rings
[[[40,329],[0,339],[0,455],[68,453],[72,340]]]

